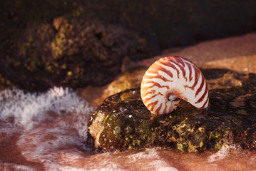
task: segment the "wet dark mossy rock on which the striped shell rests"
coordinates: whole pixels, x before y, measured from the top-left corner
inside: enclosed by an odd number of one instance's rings
[[[88,140],[103,151],[159,146],[203,152],[230,143],[256,150],[256,75],[220,69],[203,73],[210,89],[209,108],[200,110],[182,100],[172,113],[153,115],[139,89],[125,90],[95,110]]]

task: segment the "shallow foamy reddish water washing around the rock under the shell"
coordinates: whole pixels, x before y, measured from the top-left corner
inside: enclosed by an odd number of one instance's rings
[[[0,170],[256,170],[256,153],[234,145],[215,154],[155,147],[94,152],[86,145],[93,107],[68,88],[0,92]]]

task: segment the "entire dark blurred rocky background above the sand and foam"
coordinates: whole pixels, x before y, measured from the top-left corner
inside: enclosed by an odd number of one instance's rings
[[[1,0],[0,84],[103,86],[123,60],[256,31],[256,1]]]

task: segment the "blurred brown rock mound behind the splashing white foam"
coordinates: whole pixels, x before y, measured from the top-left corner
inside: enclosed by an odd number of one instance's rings
[[[73,17],[29,26],[16,46],[15,56],[1,59],[0,71],[25,90],[103,86],[121,72],[124,57],[142,59],[150,52],[136,33]]]

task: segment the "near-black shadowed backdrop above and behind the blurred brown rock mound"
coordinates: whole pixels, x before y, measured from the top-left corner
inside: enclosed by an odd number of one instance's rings
[[[253,0],[11,0],[1,4],[1,29],[9,36],[16,32],[15,26],[20,29],[31,22],[39,24],[63,15],[132,29],[160,50],[256,30]]]

